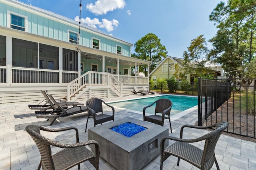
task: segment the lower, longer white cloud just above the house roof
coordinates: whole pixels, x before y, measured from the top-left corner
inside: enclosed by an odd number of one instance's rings
[[[78,16],[75,17],[75,21],[79,21]],[[93,20],[91,20],[88,17],[86,17],[85,19],[81,18],[81,23],[87,24],[94,28],[97,28],[98,25],[98,27],[105,28],[108,32],[113,31],[114,28],[116,28],[119,24],[118,20],[108,21],[107,19],[102,19],[102,22],[100,22],[98,18],[94,18]]]

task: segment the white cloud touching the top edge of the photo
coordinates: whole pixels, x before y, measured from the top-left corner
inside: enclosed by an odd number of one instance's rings
[[[97,0],[95,4],[87,4],[86,9],[97,16],[106,14],[107,12],[115,9],[123,9],[124,6],[124,0]]]

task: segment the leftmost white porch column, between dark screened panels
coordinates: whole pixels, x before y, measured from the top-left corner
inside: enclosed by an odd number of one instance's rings
[[[6,36],[6,83],[12,83],[12,37]]]

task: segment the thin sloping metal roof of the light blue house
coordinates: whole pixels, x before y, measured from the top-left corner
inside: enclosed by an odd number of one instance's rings
[[[25,8],[30,8],[30,9],[32,9],[32,10],[34,10],[34,11],[37,11],[37,12],[46,14],[46,15],[48,15],[48,16],[57,18],[57,19],[59,19],[59,20],[63,20],[63,21],[72,23],[72,24],[74,24],[74,25],[76,25],[76,26],[79,25],[79,22],[78,22],[78,21],[72,20],[72,19],[70,19],[70,18],[67,18],[67,17],[65,17],[65,16],[62,16],[62,15],[60,15],[60,14],[56,14],[56,13],[51,12],[51,11],[48,11],[48,10],[44,10],[44,9],[42,9],[42,8],[38,8],[38,7],[36,7],[36,6],[32,6],[31,4],[26,4],[26,3],[20,2],[20,1],[18,1],[18,0],[8,0],[8,1],[14,2],[14,3],[19,4],[19,5],[21,5],[21,6],[24,6]],[[108,33],[105,33],[105,32],[103,32],[103,31],[100,31],[100,30],[98,30],[98,29],[96,29],[96,28],[93,28],[93,27],[91,27],[91,26],[88,26],[88,25],[86,25],[86,24],[81,23],[81,24],[80,24],[80,27],[85,28],[85,29],[88,29],[88,30],[90,30],[90,31],[94,31],[95,33],[99,33],[99,34],[101,34],[101,35],[105,35],[105,36],[107,36],[107,37],[111,37],[111,38],[117,39],[117,40],[119,40],[119,41],[123,41],[124,43],[130,44],[130,46],[133,45],[133,44],[127,42],[127,41],[124,41],[124,40],[122,40],[122,39],[119,39],[119,38],[117,38],[117,37],[114,37],[113,35],[110,35],[110,34],[108,34]]]

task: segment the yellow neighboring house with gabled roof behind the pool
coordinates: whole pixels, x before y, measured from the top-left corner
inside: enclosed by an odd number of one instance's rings
[[[156,68],[150,72],[149,76],[154,82],[156,82],[158,78],[171,78],[175,73],[175,64],[177,64],[178,68],[180,68],[182,67],[182,63],[183,59],[167,55],[166,58],[158,62],[158,66],[156,66]]]

